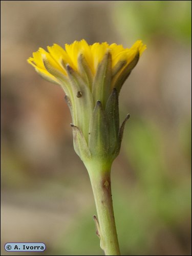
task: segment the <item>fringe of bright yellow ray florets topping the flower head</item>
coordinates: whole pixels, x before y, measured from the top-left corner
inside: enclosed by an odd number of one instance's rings
[[[123,48],[122,45],[112,44],[109,45],[106,42],[99,44],[96,42],[93,45],[88,45],[86,40],[74,41],[73,44],[65,45],[65,50],[59,45],[47,47],[48,52],[39,48],[37,52],[33,53],[33,57],[28,59],[28,62],[36,69],[38,73],[47,77],[48,79],[56,81],[56,78],[51,75],[45,65],[44,61],[49,61],[53,69],[58,70],[64,75],[67,75],[66,65],[70,65],[74,70],[78,71],[78,56],[82,54],[87,60],[87,63],[94,75],[96,73],[99,62],[102,60],[104,54],[107,51],[111,52],[112,56],[112,68],[119,61],[126,61],[129,64],[136,54],[141,55],[146,49],[141,40],[135,42],[135,44],[129,48]]]

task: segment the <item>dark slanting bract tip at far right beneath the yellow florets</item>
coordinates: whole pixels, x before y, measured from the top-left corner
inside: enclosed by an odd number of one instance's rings
[[[131,71],[134,69],[134,67],[137,65],[137,62],[139,60],[139,53],[136,54],[135,58],[125,67],[122,71],[120,70],[116,75],[113,77],[113,83],[112,88],[116,88],[118,92],[120,92],[121,87],[127,77],[131,74]]]

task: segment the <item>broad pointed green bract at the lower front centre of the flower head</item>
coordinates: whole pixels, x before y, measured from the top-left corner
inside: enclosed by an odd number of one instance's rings
[[[108,156],[109,126],[100,100],[96,103],[90,122],[89,148],[93,156]]]

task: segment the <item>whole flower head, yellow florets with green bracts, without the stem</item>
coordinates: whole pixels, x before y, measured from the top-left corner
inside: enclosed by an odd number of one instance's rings
[[[118,94],[146,49],[141,40],[129,48],[86,40],[39,48],[28,62],[45,79],[59,84],[73,120],[74,147],[81,159],[115,158],[123,126],[119,129]]]

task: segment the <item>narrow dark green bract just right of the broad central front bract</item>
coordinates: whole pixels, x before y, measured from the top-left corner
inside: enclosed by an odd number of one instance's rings
[[[114,88],[108,101],[106,102],[105,113],[109,123],[109,144],[110,154],[113,154],[116,150],[117,137],[119,132],[119,101],[118,92]]]

